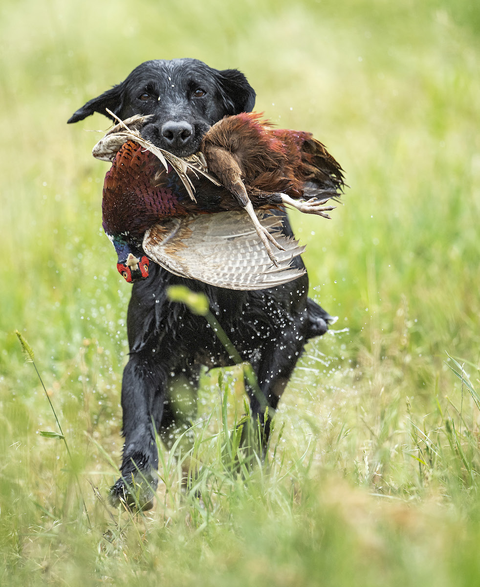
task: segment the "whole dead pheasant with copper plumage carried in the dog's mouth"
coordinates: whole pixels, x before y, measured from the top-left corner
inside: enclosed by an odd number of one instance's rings
[[[303,248],[265,211],[291,205],[329,218],[333,207],[324,204],[339,195],[343,176],[324,146],[310,133],[273,129],[242,113],[214,124],[201,152],[181,159],[141,137],[145,120],[120,122],[93,149],[113,160],[103,226],[124,278],[145,278],[150,257],[177,275],[232,289],[296,279],[301,272],[289,264]],[[269,242],[280,249],[276,257]]]

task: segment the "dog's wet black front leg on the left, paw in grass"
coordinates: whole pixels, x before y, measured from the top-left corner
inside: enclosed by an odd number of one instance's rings
[[[158,451],[154,421],[161,421],[166,377],[152,360],[151,350],[132,353],[123,372],[123,461],[121,477],[110,491],[110,501],[149,510],[157,488]],[[155,412],[155,413],[154,413]]]

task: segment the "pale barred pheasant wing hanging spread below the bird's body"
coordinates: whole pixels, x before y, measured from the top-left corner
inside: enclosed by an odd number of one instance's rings
[[[172,218],[145,233],[143,249],[175,275],[227,289],[271,288],[305,274],[291,265],[305,247],[283,234],[278,217],[258,212],[258,220],[285,249],[277,255],[278,266],[244,211]]]

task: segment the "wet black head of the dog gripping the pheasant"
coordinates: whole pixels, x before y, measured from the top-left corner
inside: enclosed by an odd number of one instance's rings
[[[89,100],[69,123],[94,112],[121,119],[150,114],[141,134],[157,147],[185,157],[198,151],[202,136],[224,116],[251,112],[255,91],[236,69],[209,68],[198,59],[146,61],[127,78]]]

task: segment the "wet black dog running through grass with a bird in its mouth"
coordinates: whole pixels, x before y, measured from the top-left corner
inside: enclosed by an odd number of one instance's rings
[[[224,116],[251,112],[254,104],[255,92],[235,69],[219,71],[196,59],[154,60],[142,63],[124,82],[87,102],[68,122],[94,112],[109,116],[106,108],[121,119],[151,114],[141,131],[143,136],[158,147],[187,156],[198,150],[202,135],[212,124]],[[286,214],[277,214],[286,234],[292,234]],[[303,268],[300,257],[295,262]],[[323,335],[330,319],[307,298],[306,275],[276,288],[244,292],[215,288],[177,277],[158,265],[150,266],[148,279],[133,285],[129,305],[130,359],[121,390],[125,437],[122,476],[111,489],[114,504],[123,499],[133,505],[129,492],[133,475],[142,488],[140,505],[144,509],[151,507],[153,500],[147,485],[157,485],[158,453],[152,422],[171,446],[175,429],[185,428],[195,407],[201,366],[233,364],[205,319],[168,299],[168,286],[182,284],[204,292],[239,354],[251,362],[265,397],[257,397],[248,386],[246,392],[252,416],[263,426],[264,443],[305,343]]]

